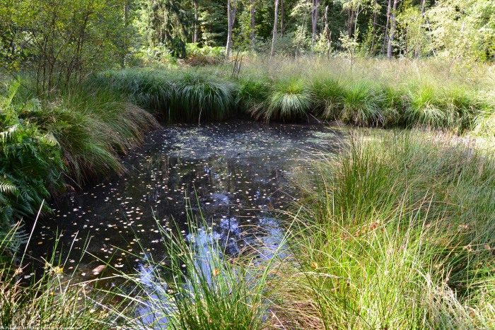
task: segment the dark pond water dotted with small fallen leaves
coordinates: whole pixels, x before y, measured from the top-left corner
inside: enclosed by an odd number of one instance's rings
[[[202,214],[226,253],[276,244],[274,215],[295,196],[291,173],[315,149],[337,148],[343,136],[320,124],[166,126],[123,158],[126,175],[54,202],[54,216],[37,223],[28,254],[44,264],[55,249],[64,273],[83,279],[105,262],[133,272],[145,254],[165,254],[157,222],[170,230],[177,223],[187,235],[187,213]]]

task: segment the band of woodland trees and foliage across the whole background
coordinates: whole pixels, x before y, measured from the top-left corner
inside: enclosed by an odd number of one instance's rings
[[[489,0],[0,0],[0,21],[2,66],[41,90],[136,54],[225,47],[229,33],[228,52],[495,58]]]

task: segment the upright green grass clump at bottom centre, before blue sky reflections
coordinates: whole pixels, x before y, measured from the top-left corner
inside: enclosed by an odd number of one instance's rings
[[[157,222],[158,223],[158,222]],[[191,223],[192,225],[192,223]],[[146,254],[132,282],[139,288],[144,327],[170,329],[264,329],[274,281],[272,261],[228,257],[209,225],[184,237],[158,223],[167,257]],[[194,229],[193,229],[194,228]],[[143,249],[145,252],[146,249]],[[275,252],[278,254],[278,252]],[[274,260],[273,258],[272,260]]]

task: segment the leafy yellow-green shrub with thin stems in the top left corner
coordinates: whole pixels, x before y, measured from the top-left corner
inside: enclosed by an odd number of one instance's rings
[[[32,76],[37,91],[64,88],[91,71],[124,63],[131,25],[122,0],[7,2],[11,50],[25,54],[16,65]]]

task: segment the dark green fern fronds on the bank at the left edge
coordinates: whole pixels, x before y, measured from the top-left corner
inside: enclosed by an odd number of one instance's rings
[[[13,221],[32,218],[41,206],[50,211],[43,199],[62,188],[60,146],[19,116],[22,109],[12,104],[17,88],[18,83],[13,84],[11,95],[0,102],[0,239]]]

